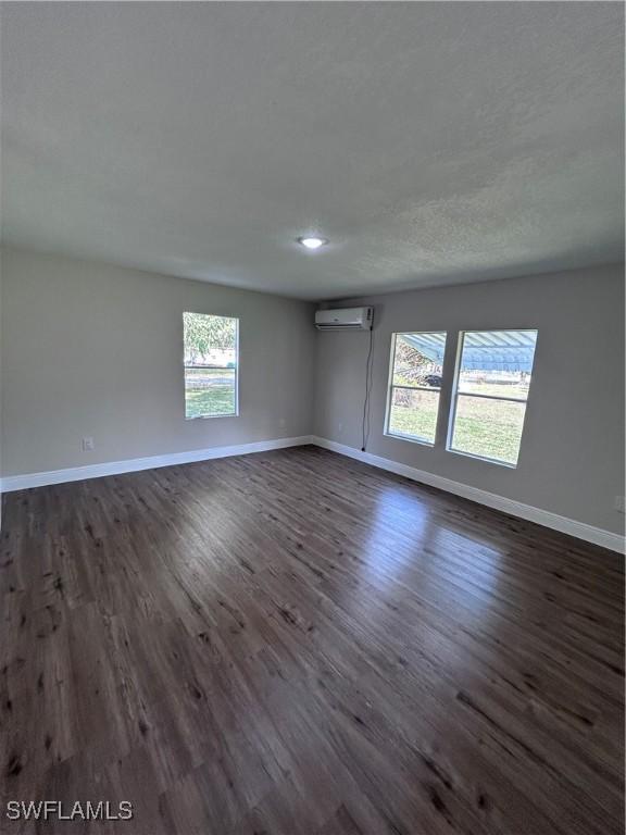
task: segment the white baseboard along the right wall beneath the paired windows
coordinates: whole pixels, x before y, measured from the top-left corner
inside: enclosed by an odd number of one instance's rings
[[[320,438],[313,436],[312,441],[318,447],[329,449],[333,452],[339,452],[342,456],[354,458],[358,461],[363,461],[365,464],[372,464],[372,466],[378,466],[381,470],[388,470],[397,475],[403,475],[406,478],[411,478],[414,482],[421,482],[427,484],[430,487],[437,487],[440,490],[447,493],[453,493],[455,496],[462,496],[465,499],[471,499],[479,504],[486,504],[488,508],[494,508],[501,510],[504,513],[510,513],[512,516],[518,516],[519,519],[526,519],[529,522],[536,522],[538,525],[544,527],[551,527],[554,531],[560,531],[563,534],[569,534],[577,539],[584,539],[587,543],[593,543],[593,545],[600,545],[602,548],[609,548],[612,551],[618,551],[624,553],[624,537],[619,534],[613,534],[610,531],[604,531],[601,527],[593,527],[585,522],[577,522],[574,519],[567,516],[560,516],[558,513],[552,513],[549,510],[541,510],[541,508],[535,508],[531,504],[524,504],[521,501],[514,499],[508,499],[504,496],[497,496],[493,493],[487,493],[478,487],[472,487],[468,484],[461,484],[461,482],[453,482],[450,478],[445,478],[441,475],[435,473],[428,473],[425,470],[417,470],[414,466],[408,464],[400,464],[397,461],[391,461],[388,458],[381,458],[380,456],[374,456],[371,452],[361,452],[360,449],[354,447],[347,447],[345,444],[337,444],[335,440],[328,440],[327,438]]]

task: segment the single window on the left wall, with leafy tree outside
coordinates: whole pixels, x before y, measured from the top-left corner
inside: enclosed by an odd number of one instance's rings
[[[185,418],[238,413],[239,320],[183,313]]]

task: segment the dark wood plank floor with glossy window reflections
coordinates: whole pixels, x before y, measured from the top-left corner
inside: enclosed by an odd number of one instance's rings
[[[617,554],[312,447],[4,514],[2,797],[135,812],[37,832],[622,832]]]

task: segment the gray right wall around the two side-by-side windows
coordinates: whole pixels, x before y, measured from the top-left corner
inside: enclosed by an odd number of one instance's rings
[[[624,493],[623,267],[399,292],[374,304],[375,347],[367,451],[543,510],[621,533]],[[334,303],[334,306],[339,307]],[[516,469],[383,434],[391,334],[447,331],[439,413],[445,436],[461,329],[538,328]],[[368,335],[317,336],[315,434],[361,448]]]

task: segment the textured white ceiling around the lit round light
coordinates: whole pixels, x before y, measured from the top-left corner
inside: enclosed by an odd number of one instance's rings
[[[308,299],[622,260],[621,3],[2,7],[7,244]]]

